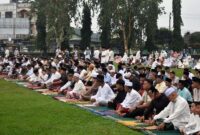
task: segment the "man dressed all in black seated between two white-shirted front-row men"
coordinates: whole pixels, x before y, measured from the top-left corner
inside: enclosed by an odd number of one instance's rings
[[[115,99],[111,102],[108,102],[108,107],[112,109],[116,109],[117,105],[122,103],[126,97],[126,91],[124,90],[124,80],[118,80],[116,82],[116,90],[117,90],[117,96]]]

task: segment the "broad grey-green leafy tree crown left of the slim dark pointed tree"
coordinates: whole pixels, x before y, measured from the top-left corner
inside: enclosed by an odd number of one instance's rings
[[[48,0],[46,5],[48,41],[56,41],[61,48],[71,34],[70,23],[76,14],[79,0]],[[68,35],[65,35],[68,34]]]

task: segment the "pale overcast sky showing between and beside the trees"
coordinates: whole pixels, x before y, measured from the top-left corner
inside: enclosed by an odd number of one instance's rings
[[[163,0],[161,6],[165,7],[166,14],[159,16],[158,27],[169,28],[169,13],[172,12],[172,0]],[[9,0],[0,0],[0,3],[8,3]],[[184,26],[182,26],[182,34],[190,31],[200,31],[200,0],[182,0],[182,19]],[[77,26],[74,23],[72,26]],[[79,26],[80,27],[80,26]],[[92,30],[97,32],[99,27],[97,25],[97,16],[94,16],[92,21]]]

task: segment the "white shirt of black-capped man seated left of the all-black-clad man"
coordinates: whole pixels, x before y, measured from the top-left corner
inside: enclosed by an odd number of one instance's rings
[[[115,98],[115,94],[113,90],[110,88],[108,84],[104,84],[103,87],[98,88],[98,92],[96,95],[92,96],[91,99],[95,99],[96,103],[107,104]]]

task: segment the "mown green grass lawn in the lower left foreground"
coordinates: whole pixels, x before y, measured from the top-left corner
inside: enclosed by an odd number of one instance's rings
[[[0,135],[139,135],[111,120],[0,80]]]

